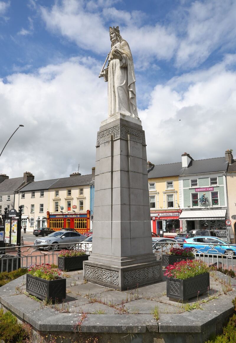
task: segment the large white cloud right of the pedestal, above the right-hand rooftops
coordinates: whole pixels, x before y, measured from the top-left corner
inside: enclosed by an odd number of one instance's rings
[[[231,63],[230,63],[231,61]],[[140,111],[152,163],[224,156],[236,149],[236,55],[209,70],[188,73],[157,85],[147,109]]]

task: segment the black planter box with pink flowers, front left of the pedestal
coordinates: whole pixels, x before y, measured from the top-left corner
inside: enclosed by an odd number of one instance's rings
[[[66,279],[45,280],[26,274],[26,292],[40,299],[61,300],[66,298]]]

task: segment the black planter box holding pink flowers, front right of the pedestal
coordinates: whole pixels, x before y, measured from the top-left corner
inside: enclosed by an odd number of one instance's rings
[[[170,300],[184,301],[207,292],[210,289],[210,275],[203,273],[185,280],[167,277],[166,295]]]

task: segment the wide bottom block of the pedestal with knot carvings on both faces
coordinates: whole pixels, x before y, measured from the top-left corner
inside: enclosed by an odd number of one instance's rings
[[[84,279],[102,286],[125,291],[149,283],[162,281],[162,262],[140,263],[117,267],[90,261],[83,262]]]

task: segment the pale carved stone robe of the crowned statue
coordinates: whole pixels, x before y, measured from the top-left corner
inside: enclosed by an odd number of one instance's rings
[[[126,40],[112,49],[120,52],[122,59],[113,59],[110,52],[104,80],[108,81],[108,116],[125,114],[138,118],[133,58]],[[111,50],[112,51],[112,50]]]

